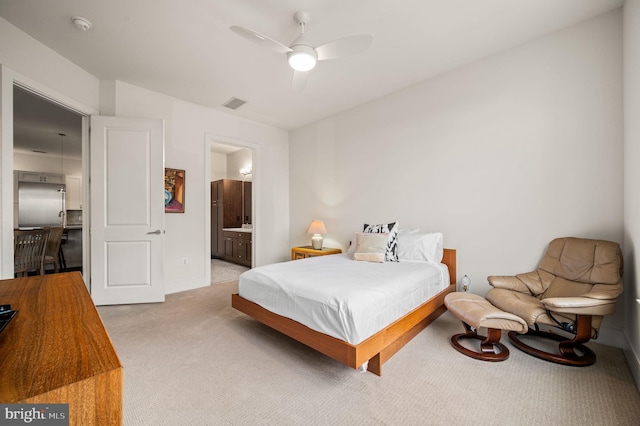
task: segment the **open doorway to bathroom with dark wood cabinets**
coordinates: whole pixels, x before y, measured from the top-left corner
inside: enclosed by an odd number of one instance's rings
[[[253,151],[210,142],[211,283],[237,280],[253,263]]]

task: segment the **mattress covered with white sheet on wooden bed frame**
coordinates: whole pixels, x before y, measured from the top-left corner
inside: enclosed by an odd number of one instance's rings
[[[318,256],[250,269],[238,294],[278,315],[358,344],[449,285],[444,264]]]

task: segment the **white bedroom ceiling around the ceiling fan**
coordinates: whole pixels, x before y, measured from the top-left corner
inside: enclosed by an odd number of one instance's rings
[[[116,79],[294,129],[618,8],[623,0],[0,0],[0,16],[101,79]],[[311,14],[316,45],[372,34],[369,50],[325,61],[303,92],[282,54],[231,32],[289,44]],[[93,28],[71,22],[79,15]],[[7,41],[2,41],[7,42]],[[231,97],[247,104],[221,105]]]

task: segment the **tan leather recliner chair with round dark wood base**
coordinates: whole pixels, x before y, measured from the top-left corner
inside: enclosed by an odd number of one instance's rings
[[[497,308],[525,320],[529,326],[525,335],[560,342],[559,353],[547,352],[525,344],[523,340],[527,339],[511,331],[509,340],[518,349],[560,364],[591,365],[596,355],[584,343],[597,338],[603,317],[615,312],[622,293],[622,267],[622,252],[615,242],[557,238],[549,243],[537,270],[488,277],[494,288],[486,298]],[[565,333],[544,331],[540,325]],[[571,334],[573,338],[566,337]]]

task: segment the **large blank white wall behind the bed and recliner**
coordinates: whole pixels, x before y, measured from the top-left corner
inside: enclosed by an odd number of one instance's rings
[[[620,10],[291,132],[291,244],[323,219],[442,231],[458,277],[535,269],[560,236],[623,239]],[[605,320],[618,329],[623,315]],[[607,333],[602,333],[600,342]]]

